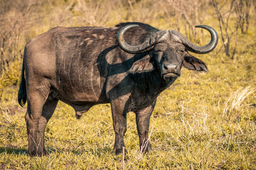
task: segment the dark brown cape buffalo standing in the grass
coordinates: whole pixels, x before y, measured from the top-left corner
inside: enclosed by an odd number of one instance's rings
[[[115,130],[114,152],[122,152],[127,112],[136,114],[140,148],[148,138],[150,115],[157,96],[180,76],[182,66],[207,71],[188,53],[209,53],[218,43],[196,46],[174,30],[127,22],[115,27],[55,27],[31,39],[24,49],[18,101],[24,106],[29,155],[45,155],[45,126],[58,101],[69,104],[76,117],[95,104],[110,103]],[[24,75],[25,73],[25,75]],[[26,76],[26,80],[25,80]]]

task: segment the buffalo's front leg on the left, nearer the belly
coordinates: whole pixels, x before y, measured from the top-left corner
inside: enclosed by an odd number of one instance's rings
[[[125,102],[122,103],[120,100],[115,100],[111,103],[113,127],[115,130],[115,145],[113,152],[116,155],[122,153],[122,148],[124,145],[124,134],[126,132],[126,115],[127,108],[125,108]]]

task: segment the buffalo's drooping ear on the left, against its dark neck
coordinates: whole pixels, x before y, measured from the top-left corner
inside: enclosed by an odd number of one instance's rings
[[[146,55],[140,60],[134,62],[129,69],[129,73],[143,73],[152,71],[154,69],[152,62],[150,62],[150,55]]]

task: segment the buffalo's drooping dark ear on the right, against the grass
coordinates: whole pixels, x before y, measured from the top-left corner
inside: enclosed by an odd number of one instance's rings
[[[184,57],[183,66],[187,69],[195,70],[195,71],[205,71],[207,72],[207,66],[204,61],[197,59],[193,55],[187,53]]]

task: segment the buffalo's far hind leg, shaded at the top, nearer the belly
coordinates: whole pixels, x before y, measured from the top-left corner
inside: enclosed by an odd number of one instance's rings
[[[39,119],[38,123],[38,131],[37,131],[37,141],[38,141],[38,149],[37,155],[46,155],[47,152],[45,150],[44,145],[44,131],[47,125],[47,122],[52,117],[52,114],[58,104],[58,99],[52,99],[48,97],[46,103],[44,104],[42,116]]]

